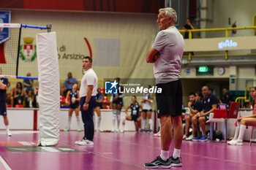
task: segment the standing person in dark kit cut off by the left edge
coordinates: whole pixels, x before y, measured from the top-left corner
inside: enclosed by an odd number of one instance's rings
[[[0,74],[1,68],[0,68]],[[9,120],[7,117],[7,85],[8,85],[8,79],[2,77],[0,81],[0,115],[4,117],[4,125],[7,129],[7,136],[12,136],[9,129]]]

